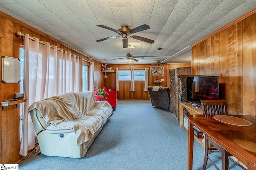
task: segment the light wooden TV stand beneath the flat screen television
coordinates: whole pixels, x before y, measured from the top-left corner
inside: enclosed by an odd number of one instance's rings
[[[186,102],[179,102],[179,104],[180,104],[180,113],[179,113],[180,127],[184,128],[185,130],[188,130],[183,125],[183,107],[187,109],[187,111],[190,113],[190,115],[203,115],[202,107],[196,108],[196,107],[192,106],[192,103],[186,103]],[[202,141],[203,138],[197,138],[197,136],[194,135],[194,139],[196,141],[198,141],[198,143],[200,143],[204,147],[204,142]]]

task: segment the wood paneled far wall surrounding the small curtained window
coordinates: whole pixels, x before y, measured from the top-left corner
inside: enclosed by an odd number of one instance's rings
[[[109,64],[107,65],[107,68],[112,67],[116,68],[118,67],[120,70],[122,68],[141,68],[145,69],[145,67],[149,68],[150,66],[157,66],[157,65],[147,65],[147,64],[120,64],[120,65],[114,65]],[[160,65],[164,67],[164,75],[163,76],[150,76],[150,70],[148,70],[148,85],[149,86],[163,86],[163,87],[169,87],[170,86],[170,79],[169,79],[169,69],[175,69],[177,67],[189,67],[191,66],[190,63],[175,63],[170,65]],[[104,87],[107,87],[108,89],[115,90],[116,89],[116,73],[106,73],[107,77],[104,79]],[[155,79],[161,80],[164,79],[163,83],[161,84],[155,84],[153,81]],[[144,81],[135,81],[135,91],[130,91],[130,81],[119,81],[119,91],[117,92],[117,98],[118,99],[150,99],[149,94],[147,91],[144,91]]]

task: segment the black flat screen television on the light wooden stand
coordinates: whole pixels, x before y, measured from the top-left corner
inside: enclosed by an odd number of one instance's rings
[[[187,77],[187,100],[202,107],[201,99],[219,99],[219,76]]]

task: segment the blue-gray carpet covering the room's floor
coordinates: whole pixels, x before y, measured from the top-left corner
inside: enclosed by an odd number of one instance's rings
[[[219,152],[210,154],[221,166]],[[194,141],[193,169],[201,170],[204,148]],[[84,158],[30,154],[20,170],[186,170],[187,131],[169,111],[149,100],[118,100],[114,115]],[[215,170],[208,161],[208,170]],[[240,169],[230,162],[231,170]]]

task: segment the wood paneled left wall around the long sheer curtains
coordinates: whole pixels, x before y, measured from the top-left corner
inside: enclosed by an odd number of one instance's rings
[[[30,36],[39,38],[40,41],[50,42],[59,48],[67,50],[72,54],[83,57],[88,61],[93,61],[86,55],[76,51],[72,47],[65,45],[58,40],[49,38],[46,34],[0,12],[0,56],[6,55],[10,57],[19,58],[20,44],[23,44],[23,38],[16,36],[16,32],[29,34]],[[0,60],[0,65],[2,65]],[[103,75],[100,72],[100,63],[94,61],[94,81],[95,85],[103,85]],[[1,77],[0,69],[0,79]],[[0,101],[12,99],[14,93],[19,93],[19,83],[2,83],[0,82]],[[19,154],[20,150],[20,107],[19,105],[12,105],[0,109],[0,162],[4,164],[13,164],[18,162],[22,156]]]

